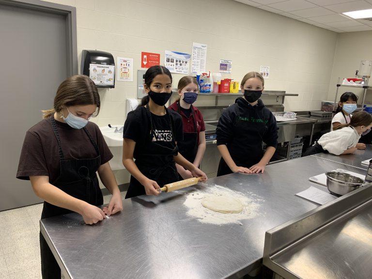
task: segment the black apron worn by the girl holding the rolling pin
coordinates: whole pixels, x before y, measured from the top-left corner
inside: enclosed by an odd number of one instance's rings
[[[154,138],[154,125],[151,117],[149,106],[146,107],[147,118],[150,123],[150,134],[145,140],[141,148],[140,155],[136,156],[136,166],[148,179],[156,181],[162,187],[165,184],[178,181],[178,173],[173,155],[177,155],[178,148],[174,141],[173,120],[167,108],[165,108],[168,115],[167,120],[172,133],[172,148],[161,146],[153,141]],[[130,176],[128,191],[126,192],[125,199],[137,197],[146,194],[145,187],[134,178]]]

